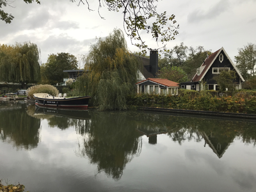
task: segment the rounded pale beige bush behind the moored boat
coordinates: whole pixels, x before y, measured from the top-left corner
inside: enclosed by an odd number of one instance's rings
[[[59,91],[51,84],[38,84],[28,88],[28,97],[33,98],[34,93],[48,93],[52,96],[57,96]]]

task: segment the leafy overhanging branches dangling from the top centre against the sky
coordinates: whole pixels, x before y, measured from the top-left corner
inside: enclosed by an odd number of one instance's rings
[[[71,1],[76,2],[75,0]],[[157,13],[156,2],[157,0],[99,0],[98,12],[100,15],[100,8],[106,4],[109,11],[123,13],[125,33],[131,38],[132,44],[140,49],[148,49],[148,45],[145,44],[140,36],[142,31],[146,31],[147,33],[151,33],[156,41],[160,40],[163,44],[163,49],[166,50],[167,42],[174,40],[175,35],[179,33],[177,31],[179,24],[175,26],[175,15],[168,16],[166,12]],[[79,0],[78,6],[79,4],[87,4],[88,10],[91,10],[87,0]],[[104,19],[101,15],[100,17]],[[133,40],[138,40],[140,43],[133,43]]]

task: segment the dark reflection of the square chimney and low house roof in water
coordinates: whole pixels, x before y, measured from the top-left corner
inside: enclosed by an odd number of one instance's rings
[[[142,135],[146,135],[148,137],[148,143],[152,145],[156,145],[157,143],[157,134],[164,134],[167,131],[165,127],[150,127],[150,125],[138,125],[137,131],[139,131]]]

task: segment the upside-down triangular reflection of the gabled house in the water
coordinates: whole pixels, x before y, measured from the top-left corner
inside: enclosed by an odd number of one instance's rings
[[[205,132],[202,132],[202,136],[205,140],[205,145],[207,143],[219,158],[223,156],[230,143],[232,143],[234,140],[234,138],[224,138],[223,136],[221,137],[220,135],[214,134],[213,132],[210,132],[208,135]]]

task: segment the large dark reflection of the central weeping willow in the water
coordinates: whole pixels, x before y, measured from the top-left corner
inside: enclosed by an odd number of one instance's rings
[[[98,166],[98,172],[118,180],[125,165],[141,151],[141,138],[134,129],[135,122],[127,113],[120,111],[91,113],[92,119],[79,141],[77,156],[88,156]]]

